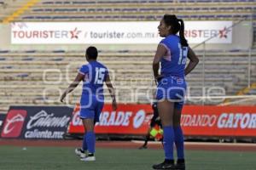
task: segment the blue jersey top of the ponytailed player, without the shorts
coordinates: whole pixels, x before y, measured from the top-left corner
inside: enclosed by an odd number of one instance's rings
[[[184,77],[184,68],[189,48],[182,47],[180,38],[176,35],[170,35],[164,38],[160,44],[167,49],[166,56],[163,56],[160,60],[160,74],[164,76]]]

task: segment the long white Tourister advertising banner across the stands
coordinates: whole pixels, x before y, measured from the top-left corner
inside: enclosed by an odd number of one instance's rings
[[[12,44],[155,44],[158,21],[12,23]],[[231,43],[232,21],[186,21],[189,43]]]

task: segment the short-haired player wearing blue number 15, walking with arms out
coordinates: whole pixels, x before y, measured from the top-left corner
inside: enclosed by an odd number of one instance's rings
[[[99,117],[104,105],[103,83],[105,82],[109,93],[112,97],[113,111],[117,109],[115,94],[112,83],[108,75],[108,69],[102,65],[97,59],[97,49],[89,47],[86,49],[87,65],[82,65],[79,73],[73,83],[69,85],[67,90],[61,95],[61,102],[67,94],[73,91],[83,81],[83,92],[80,99],[80,118],[84,124],[84,140],[81,149],[76,149],[75,152],[81,157],[81,161],[95,161],[95,143],[96,137],[94,126],[99,122]]]

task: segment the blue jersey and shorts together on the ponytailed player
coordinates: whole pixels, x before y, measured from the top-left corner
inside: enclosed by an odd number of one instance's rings
[[[187,88],[184,69],[189,48],[182,47],[180,38],[176,35],[164,38],[160,44],[165,46],[167,53],[160,60],[160,74],[164,78],[158,83],[156,99],[171,100],[175,108],[182,109]]]

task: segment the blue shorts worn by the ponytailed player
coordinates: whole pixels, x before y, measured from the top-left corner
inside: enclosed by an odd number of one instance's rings
[[[184,78],[174,76],[163,77],[157,86],[156,99],[168,99],[174,103],[174,108],[182,109],[186,88],[187,83]]]

